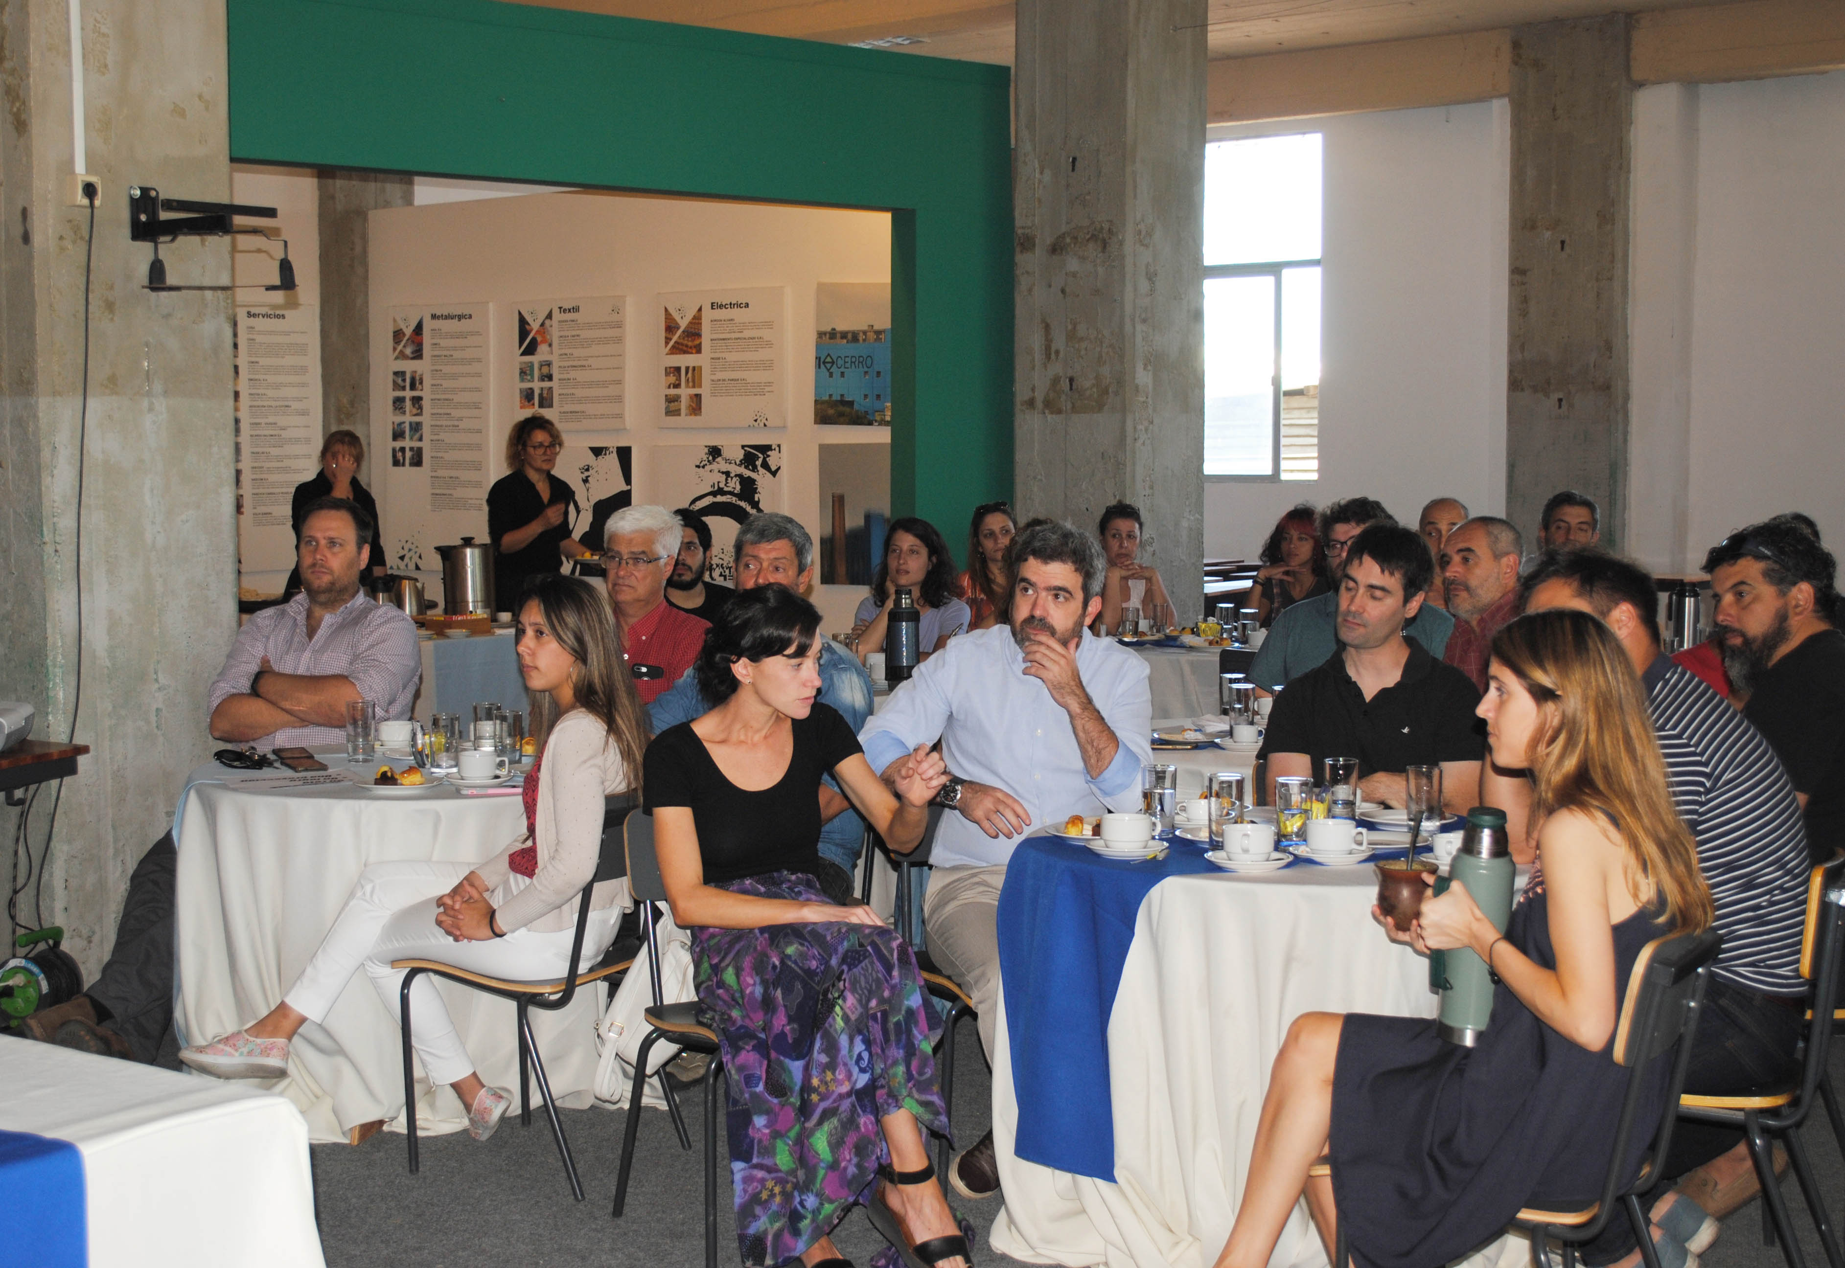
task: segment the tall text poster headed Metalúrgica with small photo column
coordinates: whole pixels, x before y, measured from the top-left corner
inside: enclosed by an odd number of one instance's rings
[[[386,326],[373,444],[391,536],[378,546],[393,571],[437,571],[439,544],[487,536],[500,466],[489,435],[493,308],[391,308]]]

